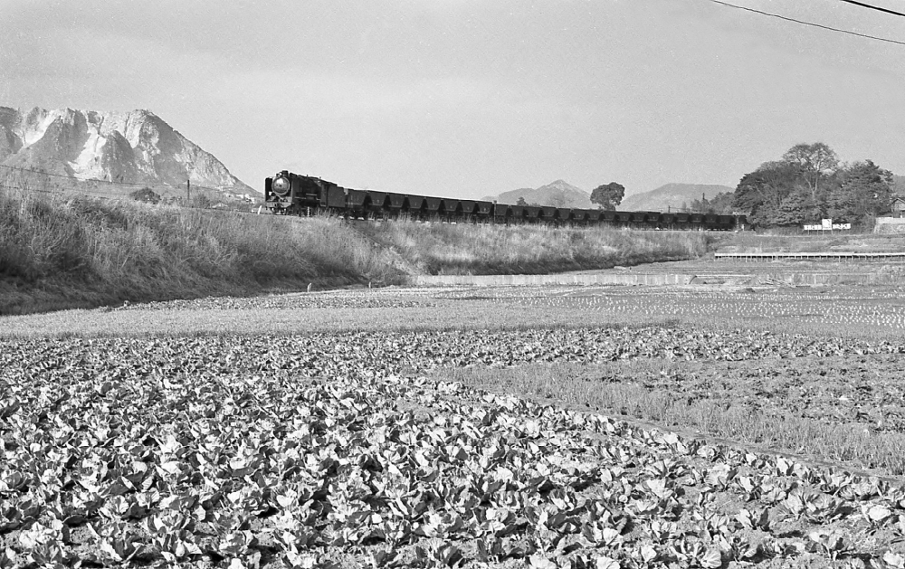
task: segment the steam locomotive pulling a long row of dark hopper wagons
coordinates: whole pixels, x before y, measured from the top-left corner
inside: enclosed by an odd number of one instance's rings
[[[472,223],[609,225],[636,229],[738,231],[744,215],[621,212],[546,205],[497,204],[427,195],[353,190],[288,170],[264,180],[264,206],[278,215],[333,213],[353,219],[414,219]]]

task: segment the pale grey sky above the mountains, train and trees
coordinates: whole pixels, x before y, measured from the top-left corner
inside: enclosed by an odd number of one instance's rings
[[[726,2],[905,43],[842,0]],[[712,0],[0,0],[0,106],[149,109],[259,190],[735,187],[818,141],[905,174],[905,45]]]

